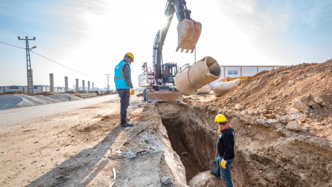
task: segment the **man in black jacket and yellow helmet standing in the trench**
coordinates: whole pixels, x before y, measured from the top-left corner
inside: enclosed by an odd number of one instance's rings
[[[235,132],[234,129],[227,125],[227,119],[222,114],[218,114],[215,117],[215,122],[219,127],[217,150],[218,158],[217,169],[210,170],[210,172],[217,178],[223,178],[227,187],[233,187],[232,178],[230,175],[230,166],[234,160],[234,142]]]

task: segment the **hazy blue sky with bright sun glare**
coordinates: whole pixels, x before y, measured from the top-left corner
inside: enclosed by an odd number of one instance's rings
[[[132,80],[141,65],[152,66],[153,40],[163,22],[165,1],[146,0],[0,0],[0,21],[38,40],[34,51],[83,75],[31,54],[35,84],[69,86],[75,79],[106,85],[105,73],[114,76],[114,67],[124,53],[132,52]],[[324,62],[332,58],[332,1],[320,0],[187,0],[192,18],[202,23],[197,59],[214,57],[223,65],[290,65]],[[26,34],[0,22],[0,42],[25,47],[16,36]],[[165,62],[193,63],[194,55],[175,52],[177,20],[174,17],[163,47]],[[28,36],[30,38],[30,36]],[[46,44],[45,44],[46,43]],[[50,45],[50,46],[49,46]],[[51,47],[52,46],[52,47]],[[0,85],[26,85],[26,55],[23,49],[0,44]],[[114,88],[113,78],[110,79]]]

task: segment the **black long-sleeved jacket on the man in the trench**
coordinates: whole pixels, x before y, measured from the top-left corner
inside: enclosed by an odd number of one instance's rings
[[[220,132],[219,139],[217,141],[217,149],[219,156],[224,160],[234,158],[234,142],[235,133],[233,128],[226,128]]]

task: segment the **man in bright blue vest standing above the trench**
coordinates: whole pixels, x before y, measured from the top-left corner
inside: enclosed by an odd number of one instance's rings
[[[134,124],[129,123],[130,118],[127,118],[127,108],[129,106],[130,95],[134,95],[135,91],[131,83],[131,71],[130,65],[134,62],[134,55],[131,52],[127,52],[124,55],[124,59],[115,67],[115,88],[120,96],[120,116],[121,127],[132,127]]]

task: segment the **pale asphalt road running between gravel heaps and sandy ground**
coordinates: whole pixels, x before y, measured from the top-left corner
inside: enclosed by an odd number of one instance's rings
[[[34,107],[0,110],[0,126],[8,125],[11,123],[17,123],[29,119],[45,117],[73,109],[83,108],[116,98],[118,98],[117,94],[113,94],[103,97],[82,99],[78,101],[68,101],[68,102],[40,105]]]

